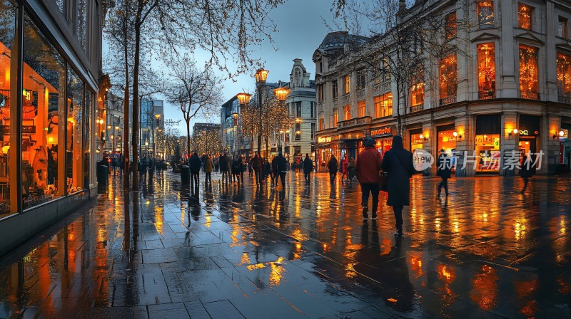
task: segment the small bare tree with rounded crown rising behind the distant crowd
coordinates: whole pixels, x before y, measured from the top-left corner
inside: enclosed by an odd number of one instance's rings
[[[203,69],[196,66],[188,56],[176,58],[170,64],[171,92],[168,93],[170,103],[178,106],[186,122],[187,154],[191,153],[191,119],[199,111],[214,109],[220,105],[221,79],[213,74],[210,66]]]

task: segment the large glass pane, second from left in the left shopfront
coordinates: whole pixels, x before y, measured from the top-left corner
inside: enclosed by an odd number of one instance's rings
[[[64,58],[31,21],[24,20],[22,189],[24,209],[65,194],[66,68]]]

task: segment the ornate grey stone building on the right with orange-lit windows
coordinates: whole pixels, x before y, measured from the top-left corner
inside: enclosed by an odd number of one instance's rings
[[[405,147],[454,155],[457,176],[514,174],[507,157],[524,153],[541,160],[539,174],[568,171],[570,4],[417,1],[401,13],[403,21],[408,14],[418,14],[415,7],[425,2],[434,4],[426,14],[470,21],[458,31],[456,23],[445,26],[447,33],[453,32],[448,41],[466,50],[428,58],[437,66],[435,75],[410,83],[406,101],[403,95],[397,100],[394,75],[342,68],[335,59],[346,52],[342,37],[326,36],[315,51],[320,161],[330,154],[358,154],[364,136],[373,137],[380,152],[388,150],[398,130],[393,105],[400,102],[406,106],[400,109]],[[425,173],[430,171],[434,174],[435,164]]]

